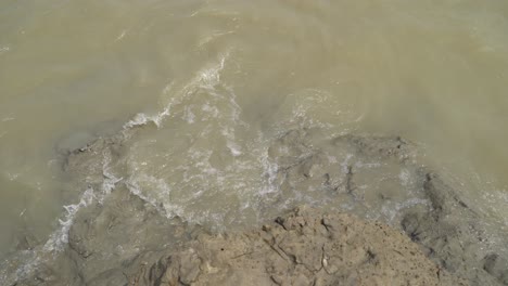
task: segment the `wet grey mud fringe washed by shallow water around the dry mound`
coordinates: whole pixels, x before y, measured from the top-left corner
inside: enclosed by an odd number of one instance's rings
[[[238,211],[236,216],[251,225],[253,221],[255,225],[266,223],[302,204],[313,205],[320,213],[354,213],[405,233],[433,263],[470,285],[507,282],[503,269],[508,261],[508,236],[497,226],[499,222],[484,217],[474,202],[423,167],[412,143],[398,136],[343,134],[330,139],[319,133],[293,129],[276,136],[269,153],[277,165],[272,180],[277,191],[251,209],[231,207],[229,211]],[[221,233],[172,213],[164,205],[134,193],[125,179],[97,168],[105,155],[110,166],[122,161],[122,150],[131,135],[99,139],[69,154],[65,170],[84,178],[88,191],[69,210],[72,217],[60,238],[30,250],[31,266],[27,268],[26,257],[17,263],[11,260],[10,271],[3,272],[11,273],[3,276],[8,285],[127,285],[134,276],[125,271],[135,275],[149,265],[147,261],[156,263],[162,253],[193,244],[201,234]],[[245,217],[249,213],[251,218]],[[276,222],[283,224],[279,219]],[[239,220],[237,230],[250,229],[241,224]],[[135,285],[158,285],[151,278],[138,283]]]

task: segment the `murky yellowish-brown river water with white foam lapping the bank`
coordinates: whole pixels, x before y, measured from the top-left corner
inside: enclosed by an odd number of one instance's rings
[[[68,151],[141,125],[111,178],[189,221],[242,221],[299,127],[416,142],[508,225],[507,1],[1,1],[0,23],[0,258],[86,191]]]

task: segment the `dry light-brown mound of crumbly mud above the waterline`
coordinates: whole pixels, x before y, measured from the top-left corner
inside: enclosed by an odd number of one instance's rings
[[[129,285],[467,285],[404,234],[344,213],[295,210],[262,230],[200,235]]]

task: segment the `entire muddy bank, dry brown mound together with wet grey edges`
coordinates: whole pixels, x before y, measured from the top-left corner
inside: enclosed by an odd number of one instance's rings
[[[103,168],[125,136],[76,150],[66,172],[101,191],[73,217],[63,250],[11,285],[508,285],[508,235],[422,167],[410,142],[317,133],[272,141],[277,192],[257,211],[280,218],[242,233],[209,234],[132,194]],[[290,211],[307,196],[319,211]]]

